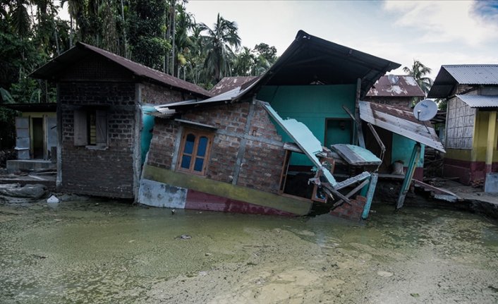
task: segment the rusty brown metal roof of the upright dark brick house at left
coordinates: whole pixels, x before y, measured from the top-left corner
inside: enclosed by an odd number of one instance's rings
[[[61,71],[66,70],[66,68],[70,68],[71,63],[81,59],[88,52],[97,54],[98,56],[103,56],[104,58],[119,64],[123,68],[126,68],[134,75],[143,79],[152,80],[152,82],[157,83],[158,85],[174,87],[177,90],[190,92],[198,97],[213,96],[207,90],[204,90],[198,85],[194,85],[193,83],[189,83],[185,80],[156,71],[147,66],[143,66],[140,63],[130,61],[129,59],[123,58],[109,51],[105,51],[104,49],[93,47],[92,45],[85,44],[83,42],[77,42],[73,48],[65,51],[63,54],[44,64],[44,66],[41,66],[36,71],[32,72],[30,76],[40,79],[56,80]]]

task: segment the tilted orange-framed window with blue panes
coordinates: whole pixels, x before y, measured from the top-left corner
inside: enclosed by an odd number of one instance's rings
[[[199,130],[185,130],[178,157],[178,170],[204,175],[211,143],[212,134]]]

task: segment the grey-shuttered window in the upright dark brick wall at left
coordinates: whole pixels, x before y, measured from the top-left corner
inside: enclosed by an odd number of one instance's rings
[[[74,145],[107,146],[107,112],[95,109],[74,111]]]

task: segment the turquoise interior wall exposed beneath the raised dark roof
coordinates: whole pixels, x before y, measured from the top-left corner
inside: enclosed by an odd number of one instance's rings
[[[257,95],[257,99],[269,102],[282,118],[295,118],[308,126],[322,144],[326,118],[350,118],[342,106],[353,111],[355,98],[356,85],[265,86]],[[283,130],[277,129],[284,141],[292,141]],[[311,162],[304,155],[296,155],[291,164],[310,166]]]

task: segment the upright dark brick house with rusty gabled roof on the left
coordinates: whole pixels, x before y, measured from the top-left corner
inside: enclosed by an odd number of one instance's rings
[[[32,77],[57,85],[57,188],[134,199],[154,104],[212,96],[206,90],[78,42]]]

